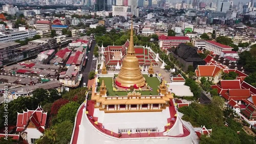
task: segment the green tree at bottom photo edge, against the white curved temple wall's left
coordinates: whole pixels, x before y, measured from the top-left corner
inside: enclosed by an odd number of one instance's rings
[[[73,122],[63,121],[56,125],[56,140],[57,143],[69,143],[73,131]]]

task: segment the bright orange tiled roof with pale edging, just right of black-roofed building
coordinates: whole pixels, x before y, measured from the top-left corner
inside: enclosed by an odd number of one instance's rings
[[[198,77],[215,77],[221,68],[216,65],[198,65]]]

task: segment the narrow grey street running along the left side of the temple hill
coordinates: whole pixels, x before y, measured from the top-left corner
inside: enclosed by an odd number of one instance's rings
[[[83,83],[88,84],[88,75],[90,73],[90,71],[95,70],[96,69],[96,62],[95,60],[93,60],[93,51],[94,51],[94,47],[95,47],[96,41],[93,40],[92,41],[92,45],[91,45],[91,50],[90,53],[87,54],[87,62],[86,62],[86,66],[84,67],[83,71],[81,72],[82,74],[82,82],[80,83],[80,86],[83,86]]]

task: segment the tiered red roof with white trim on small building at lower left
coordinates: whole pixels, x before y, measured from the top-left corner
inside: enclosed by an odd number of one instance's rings
[[[17,130],[23,131],[27,128],[29,122],[32,122],[33,125],[41,132],[44,132],[44,127],[46,125],[47,112],[44,112],[42,108],[38,107],[36,110],[28,110],[27,112],[18,113],[17,115]]]

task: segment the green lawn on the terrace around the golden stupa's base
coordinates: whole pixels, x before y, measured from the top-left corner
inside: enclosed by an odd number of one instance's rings
[[[159,80],[156,77],[148,77],[147,75],[143,75],[143,76],[146,79],[147,84],[151,88],[153,88],[153,91],[136,91],[136,92],[140,92],[141,95],[158,95],[157,89],[158,89],[158,86],[160,85]],[[127,93],[132,92],[132,91],[113,91],[112,77],[105,77],[105,78],[100,77],[97,91],[99,91],[99,87],[102,80],[104,80],[106,89],[108,89],[108,92],[109,92],[108,96],[116,96],[116,95],[124,96],[124,95],[127,95]]]

